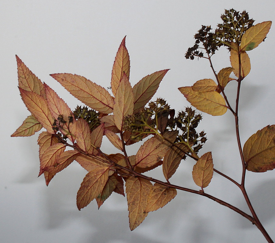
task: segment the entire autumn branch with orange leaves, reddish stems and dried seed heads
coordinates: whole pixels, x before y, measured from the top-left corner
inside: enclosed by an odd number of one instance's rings
[[[233,9],[225,11],[222,21],[214,32],[211,32],[211,26],[202,26],[195,35],[195,45],[185,56],[191,60],[194,57],[207,59],[214,78],[198,80],[191,87],[178,89],[199,111],[213,116],[224,115],[228,110],[232,112],[243,166],[241,183],[214,169],[212,152],[199,153],[207,141],[205,132],[196,130],[201,114],[188,107],[176,114],[164,99],[151,101],[168,69],[147,75],[131,85],[130,58],[124,37],[115,56],[110,88],[76,74],[50,74],[85,104],[75,110],[71,110],[16,56],[20,95],[31,114],[12,137],[31,136],[45,129],[39,135],[38,145],[39,176],[44,175],[46,185],[76,161],[87,170],[77,192],[79,210],[92,200],[96,200],[98,208],[101,207],[113,192],[122,196],[126,193],[130,229],[134,230],[149,212],[164,207],[176,197],[177,190],[183,190],[231,208],[256,224],[267,241],[272,242],[247,200],[244,180],[246,170],[265,172],[275,168],[275,127],[269,125],[257,131],[242,148],[238,125],[240,85],[251,69],[247,52],[264,41],[271,21],[254,25],[254,20],[249,19],[245,11],[240,13]],[[211,56],[222,46],[230,51],[231,67],[222,68],[216,74]],[[234,108],[225,93],[229,82],[235,82],[237,87]],[[121,152],[108,154],[102,151],[104,136]],[[128,156],[127,146],[142,140],[145,142],[141,143],[136,155]],[[198,190],[170,183],[180,163],[187,158],[194,160],[192,176]],[[158,166],[162,166],[165,182],[143,174]],[[242,190],[252,216],[205,193],[214,172]]]

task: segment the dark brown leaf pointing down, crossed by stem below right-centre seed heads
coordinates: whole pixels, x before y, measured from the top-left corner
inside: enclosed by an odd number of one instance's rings
[[[183,151],[187,152],[189,150],[187,145],[178,144],[178,146]],[[182,157],[184,156],[184,152],[180,149],[174,146],[171,147],[163,158],[162,170],[166,180],[169,180],[174,175],[180,165]]]

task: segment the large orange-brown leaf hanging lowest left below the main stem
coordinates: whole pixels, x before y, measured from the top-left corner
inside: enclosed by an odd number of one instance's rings
[[[110,167],[96,168],[84,177],[77,192],[76,204],[79,210],[86,207],[102,192],[108,180],[109,168]]]

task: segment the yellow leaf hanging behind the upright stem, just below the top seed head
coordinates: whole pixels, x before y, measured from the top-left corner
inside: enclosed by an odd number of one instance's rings
[[[232,43],[232,45],[234,45],[235,48],[237,48],[236,43]],[[245,51],[242,51],[240,56],[241,56],[241,76],[246,77],[251,70],[250,59]],[[239,78],[239,53],[234,48],[231,48],[230,50],[230,62],[231,62],[231,66],[234,68],[233,73],[235,74],[236,77]]]

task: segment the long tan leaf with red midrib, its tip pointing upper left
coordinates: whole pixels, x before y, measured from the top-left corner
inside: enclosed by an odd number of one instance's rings
[[[105,88],[76,74],[50,74],[50,76],[90,108],[104,114],[113,112],[114,101]]]

